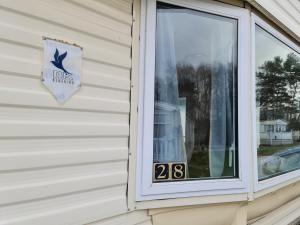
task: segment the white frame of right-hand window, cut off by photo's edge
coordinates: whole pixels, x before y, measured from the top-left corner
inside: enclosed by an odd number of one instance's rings
[[[298,181],[300,180],[300,169],[287,172],[272,178],[268,178],[262,181],[258,181],[258,165],[257,165],[257,149],[256,149],[256,71],[255,71],[255,25],[259,25],[264,30],[266,30],[268,33],[273,35],[275,38],[295,50],[296,52],[300,53],[300,48],[290,39],[288,39],[286,36],[281,34],[279,31],[277,31],[274,27],[272,27],[270,24],[268,24],[266,21],[264,21],[259,16],[255,15],[254,13],[251,13],[251,61],[252,61],[252,143],[253,143],[253,166],[254,166],[254,192],[259,192],[262,190],[266,190],[269,188],[273,188],[278,185],[288,185],[288,181]]]

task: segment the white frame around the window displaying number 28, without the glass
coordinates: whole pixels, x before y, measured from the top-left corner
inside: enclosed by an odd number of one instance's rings
[[[238,19],[239,178],[153,183],[153,118],[156,1],[142,0],[138,106],[136,201],[248,192],[251,156],[250,14],[243,8],[212,1],[161,0],[186,8]]]

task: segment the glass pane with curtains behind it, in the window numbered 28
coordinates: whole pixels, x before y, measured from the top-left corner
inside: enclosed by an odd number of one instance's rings
[[[155,54],[154,164],[237,177],[237,20],[159,3]]]

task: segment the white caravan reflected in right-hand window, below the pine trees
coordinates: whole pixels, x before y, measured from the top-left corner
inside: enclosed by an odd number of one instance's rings
[[[292,144],[292,132],[286,131],[287,122],[283,120],[266,120],[260,122],[261,145]]]

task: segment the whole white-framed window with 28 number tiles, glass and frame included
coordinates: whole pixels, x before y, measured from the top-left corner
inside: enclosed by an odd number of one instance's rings
[[[137,198],[247,192],[246,10],[143,3]]]

